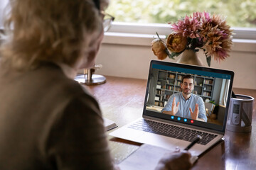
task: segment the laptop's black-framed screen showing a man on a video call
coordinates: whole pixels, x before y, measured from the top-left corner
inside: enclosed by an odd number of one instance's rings
[[[225,132],[234,73],[151,61],[144,115]]]

